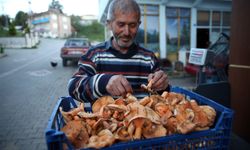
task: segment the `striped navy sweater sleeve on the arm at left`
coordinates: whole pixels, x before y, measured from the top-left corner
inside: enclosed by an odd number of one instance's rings
[[[78,71],[68,83],[69,95],[81,102],[93,103],[97,98],[107,95],[106,85],[112,75],[96,73],[96,65],[88,54],[82,56]]]

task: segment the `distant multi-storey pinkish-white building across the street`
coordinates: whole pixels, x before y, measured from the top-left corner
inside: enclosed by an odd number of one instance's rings
[[[42,37],[65,38],[72,34],[70,17],[56,9],[32,14],[29,24]]]

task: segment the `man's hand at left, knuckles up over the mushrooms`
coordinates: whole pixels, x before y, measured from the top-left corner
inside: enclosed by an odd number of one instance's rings
[[[106,90],[112,96],[125,96],[127,93],[132,93],[132,87],[128,80],[122,75],[114,75],[110,78]]]

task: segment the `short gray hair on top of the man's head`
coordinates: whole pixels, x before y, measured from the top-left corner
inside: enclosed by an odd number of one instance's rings
[[[107,21],[115,19],[115,13],[119,11],[121,13],[137,13],[138,21],[141,19],[141,11],[139,5],[134,0],[113,0],[108,9]]]

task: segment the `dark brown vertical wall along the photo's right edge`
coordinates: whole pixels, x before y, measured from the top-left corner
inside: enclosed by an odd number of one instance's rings
[[[250,142],[250,1],[234,0],[231,16],[230,67],[233,131]]]

